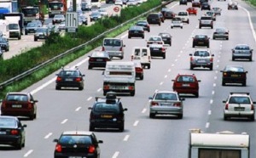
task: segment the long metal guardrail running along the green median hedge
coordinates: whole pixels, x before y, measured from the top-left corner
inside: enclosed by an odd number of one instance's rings
[[[79,49],[84,48],[86,45],[90,44],[91,42],[94,42],[94,41],[96,41],[96,40],[98,40],[98,39],[104,37],[104,36],[107,35],[109,32],[114,31],[114,30],[118,29],[119,27],[122,27],[123,25],[126,25],[126,24],[130,23],[130,22],[133,21],[133,20],[137,20],[137,19],[143,17],[144,15],[149,14],[149,13],[153,12],[154,10],[156,10],[156,9],[158,9],[158,8],[161,8],[162,6],[166,6],[167,4],[172,3],[172,2],[174,2],[174,0],[165,1],[164,3],[160,4],[159,6],[157,6],[157,7],[155,7],[155,8],[151,8],[151,9],[148,10],[147,12],[145,12],[145,13],[143,13],[143,14],[140,14],[140,15],[138,15],[137,17],[132,18],[131,20],[127,20],[127,21],[125,21],[124,23],[113,27],[113,28],[110,29],[110,30],[103,32],[102,34],[98,35],[97,37],[94,37],[94,38],[91,39],[90,41],[85,42],[84,44],[81,44],[81,45],[79,45],[79,46],[77,46],[77,47],[75,47],[75,48],[71,48],[71,49],[65,51],[64,53],[59,54],[59,55],[55,56],[54,58],[45,61],[44,63],[41,63],[40,65],[36,65],[35,67],[33,67],[32,69],[30,69],[30,70],[28,70],[28,71],[25,71],[25,72],[23,72],[23,73],[21,73],[21,74],[15,76],[15,77],[13,77],[13,78],[10,78],[9,80],[7,80],[7,81],[5,81],[5,82],[0,83],[0,89],[3,89],[3,87],[8,86],[9,84],[11,84],[11,83],[13,83],[13,82],[17,82],[17,81],[19,81],[20,79],[22,79],[22,78],[24,78],[24,77],[26,77],[26,76],[31,75],[33,72],[38,71],[38,70],[42,69],[44,66],[49,65],[50,63],[53,63],[53,62],[55,62],[56,60],[63,58],[63,57],[66,56],[67,54],[72,54],[73,52],[75,52],[75,51],[77,51],[77,50],[79,50]]]

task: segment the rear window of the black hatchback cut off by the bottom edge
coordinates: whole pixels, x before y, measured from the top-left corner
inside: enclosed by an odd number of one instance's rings
[[[60,144],[92,144],[90,136],[87,135],[62,135]]]

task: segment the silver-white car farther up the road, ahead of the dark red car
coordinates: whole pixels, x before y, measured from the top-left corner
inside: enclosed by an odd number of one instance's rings
[[[213,56],[210,50],[195,50],[194,54],[189,54],[190,56],[190,70],[195,67],[209,68],[212,71],[213,68]]]

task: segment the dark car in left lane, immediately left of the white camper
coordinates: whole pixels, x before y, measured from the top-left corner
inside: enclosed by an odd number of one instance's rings
[[[56,90],[60,90],[61,87],[79,87],[79,90],[84,89],[84,74],[79,71],[78,67],[65,69],[56,74]]]

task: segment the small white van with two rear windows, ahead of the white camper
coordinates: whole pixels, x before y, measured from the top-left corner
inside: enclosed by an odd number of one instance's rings
[[[131,53],[131,61],[139,60],[143,65],[143,68],[147,66],[147,69],[150,69],[151,65],[151,56],[150,49],[148,47],[134,47]]]

